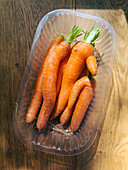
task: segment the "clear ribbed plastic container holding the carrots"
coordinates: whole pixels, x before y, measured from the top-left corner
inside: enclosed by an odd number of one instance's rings
[[[79,130],[73,135],[67,136],[56,132],[52,126],[48,126],[40,132],[34,124],[25,122],[25,115],[31,101],[41,60],[53,37],[60,33],[66,37],[74,25],[80,26],[85,31],[90,30],[92,26],[101,29],[96,48],[100,54],[103,52],[105,54],[95,77],[97,86],[94,97]],[[36,58],[35,51],[40,35],[43,39],[43,55],[41,58]],[[82,40],[82,37],[79,37],[79,40]],[[97,135],[116,52],[117,35],[113,27],[104,19],[67,9],[55,10],[44,16],[36,30],[13,114],[13,127],[17,137],[25,145],[44,152],[73,156],[86,151],[93,144]],[[55,124],[62,129],[59,121],[56,121]]]

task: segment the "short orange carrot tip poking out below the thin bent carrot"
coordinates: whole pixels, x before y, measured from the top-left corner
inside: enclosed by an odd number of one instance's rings
[[[67,106],[65,108],[65,110],[63,111],[63,113],[60,116],[60,123],[62,125],[66,124],[69,121],[71,114],[72,114],[72,111],[73,111],[73,107],[68,109],[68,106]]]

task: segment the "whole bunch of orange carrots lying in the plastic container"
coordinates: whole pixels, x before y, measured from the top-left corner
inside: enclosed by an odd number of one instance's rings
[[[65,124],[73,113],[70,127],[72,132],[76,131],[91,102],[96,87],[93,76],[97,73],[93,46],[100,30],[92,28],[71,48],[70,44],[81,32],[81,28],[74,26],[66,40],[62,34],[56,36],[42,60],[26,114],[26,122],[32,122],[43,99],[36,124],[39,130],[60,114],[60,122]]]

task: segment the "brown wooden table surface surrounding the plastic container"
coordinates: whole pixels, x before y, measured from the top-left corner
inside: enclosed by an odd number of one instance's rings
[[[104,124],[93,146],[74,157],[34,151],[24,146],[12,128],[14,102],[36,27],[54,9],[70,8],[109,21],[118,35],[116,57]],[[0,169],[128,169],[128,1],[0,0]]]

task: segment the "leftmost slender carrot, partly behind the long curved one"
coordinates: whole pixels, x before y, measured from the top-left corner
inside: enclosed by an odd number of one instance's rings
[[[28,122],[28,123],[32,122],[35,119],[36,114],[37,114],[39,107],[41,105],[41,102],[42,102],[42,97],[43,97],[42,74],[43,74],[44,62],[45,62],[48,54],[54,49],[54,47],[56,45],[58,45],[60,42],[62,42],[63,40],[64,40],[64,36],[62,34],[57,35],[52,40],[51,44],[49,45],[49,47],[43,57],[43,60],[42,60],[41,66],[40,66],[40,70],[39,70],[39,74],[37,77],[34,93],[33,93],[31,103],[30,103],[30,106],[29,106],[27,114],[26,114],[26,122]],[[39,55],[42,55],[42,52],[40,50],[40,48],[41,48],[40,46],[42,45],[41,43],[42,43],[42,40],[40,38],[37,48],[36,48],[36,52],[35,52],[35,56],[37,56],[37,57],[39,57]]]

